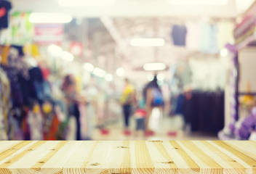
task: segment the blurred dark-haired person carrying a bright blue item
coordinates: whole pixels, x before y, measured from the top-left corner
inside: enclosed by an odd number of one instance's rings
[[[153,80],[149,82],[143,90],[145,111],[147,113],[147,116],[145,117],[145,135],[153,134],[153,131],[148,129],[148,121],[153,108],[158,107],[160,111],[162,111],[164,107],[164,97],[156,77],[157,75],[154,75]]]

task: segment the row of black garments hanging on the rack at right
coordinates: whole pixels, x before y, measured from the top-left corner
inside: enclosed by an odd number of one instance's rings
[[[215,133],[224,127],[224,92],[193,91],[191,99],[184,100],[185,123],[192,131]]]

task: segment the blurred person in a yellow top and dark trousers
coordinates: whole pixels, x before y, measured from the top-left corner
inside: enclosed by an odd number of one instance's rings
[[[124,79],[124,83],[121,93],[121,105],[124,115],[124,134],[129,135],[129,117],[132,115],[132,104],[135,104],[135,88],[131,85],[128,78]]]

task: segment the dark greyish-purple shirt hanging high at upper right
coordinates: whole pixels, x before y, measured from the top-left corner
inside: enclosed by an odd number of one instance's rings
[[[176,46],[185,46],[187,28],[184,25],[174,25],[172,28],[172,39]]]

